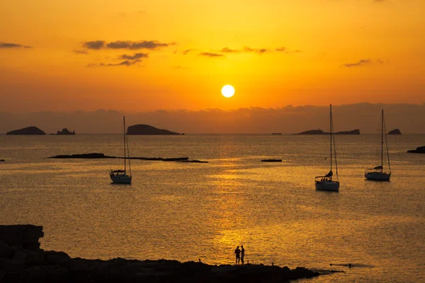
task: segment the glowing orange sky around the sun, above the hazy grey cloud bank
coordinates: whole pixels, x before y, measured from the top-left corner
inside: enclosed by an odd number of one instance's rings
[[[5,0],[0,111],[423,103],[424,11],[423,0]]]

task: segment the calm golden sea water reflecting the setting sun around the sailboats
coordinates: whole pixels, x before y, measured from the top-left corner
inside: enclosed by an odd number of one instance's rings
[[[198,260],[343,270],[306,282],[425,282],[425,135],[389,136],[392,178],[363,178],[378,135],[336,136],[340,192],[314,190],[329,171],[327,136],[131,136],[130,155],[209,163],[132,161],[132,185],[112,185],[118,134],[0,136],[0,223],[44,226],[45,250],[81,258]],[[281,158],[283,163],[261,163]],[[330,267],[330,263],[360,265]]]

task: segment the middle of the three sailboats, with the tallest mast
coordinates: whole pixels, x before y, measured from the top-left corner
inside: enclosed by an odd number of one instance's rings
[[[339,191],[339,178],[338,178],[338,165],[336,163],[336,149],[335,149],[335,139],[334,139],[334,122],[332,120],[332,105],[330,105],[330,131],[329,138],[331,144],[331,170],[324,176],[317,176],[314,179],[314,183],[316,185],[316,190],[329,190],[338,192]],[[334,146],[334,152],[332,152],[332,146]],[[332,171],[332,163],[333,158],[332,155],[335,156],[335,171],[336,171],[336,180],[333,180],[334,172]]]

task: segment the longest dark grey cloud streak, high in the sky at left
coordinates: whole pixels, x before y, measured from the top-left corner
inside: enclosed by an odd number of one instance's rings
[[[140,50],[149,49],[157,50],[161,47],[167,47],[170,45],[176,45],[176,42],[164,43],[157,40],[117,40],[113,42],[105,42],[104,40],[94,40],[83,42],[83,46],[91,50],[101,50],[102,48],[108,49],[129,49],[129,50]]]

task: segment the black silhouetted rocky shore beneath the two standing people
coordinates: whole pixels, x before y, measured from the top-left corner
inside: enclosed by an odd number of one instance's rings
[[[85,260],[40,249],[42,236],[42,226],[0,226],[0,282],[288,282],[329,273],[176,260]]]

